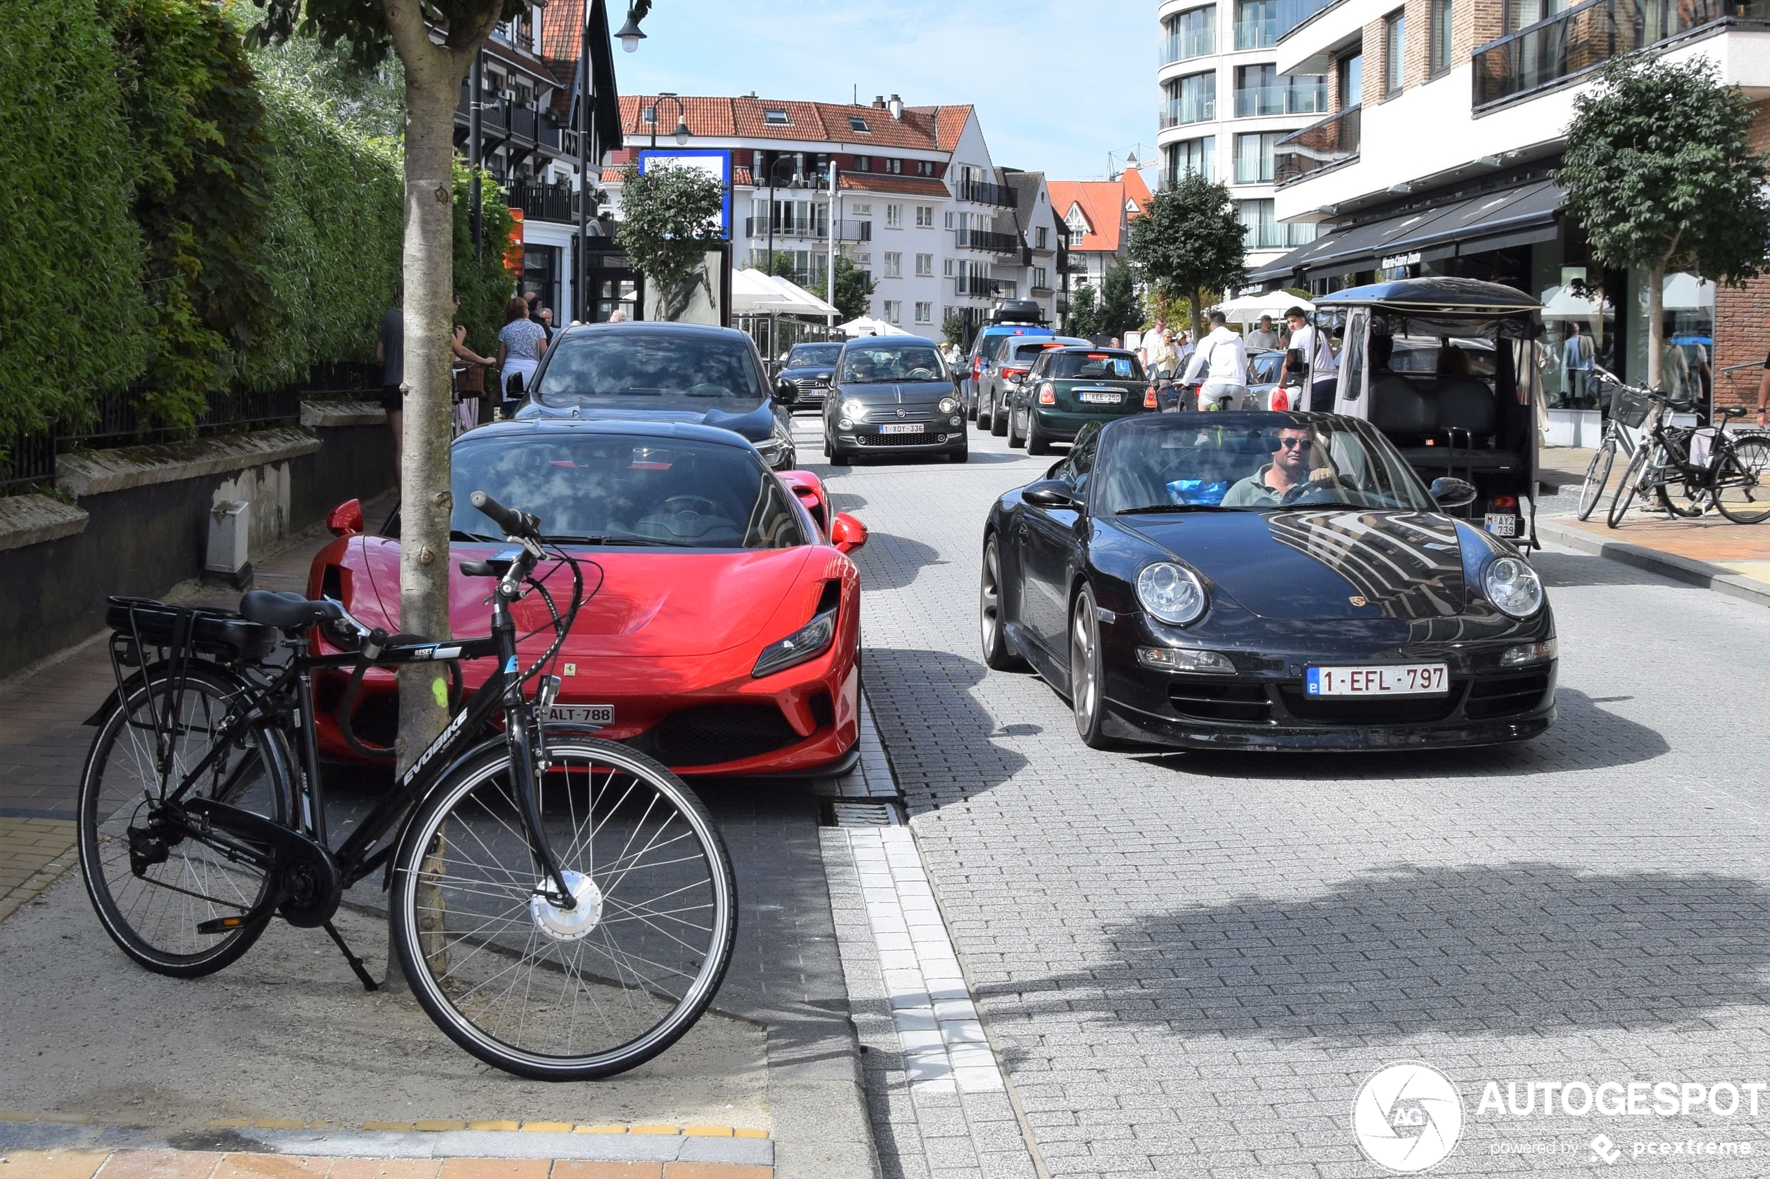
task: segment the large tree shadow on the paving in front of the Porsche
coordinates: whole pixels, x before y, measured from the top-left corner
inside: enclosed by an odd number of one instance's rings
[[[979,990],[1016,1016],[1326,1046],[1706,1031],[1770,1002],[1770,891],[1745,877],[1402,863],[1281,893],[1108,924],[1087,967]]]

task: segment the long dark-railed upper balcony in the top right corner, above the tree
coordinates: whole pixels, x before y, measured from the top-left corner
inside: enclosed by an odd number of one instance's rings
[[[1588,0],[1474,51],[1474,106],[1492,106],[1612,57],[1733,19],[1770,19],[1770,0]]]

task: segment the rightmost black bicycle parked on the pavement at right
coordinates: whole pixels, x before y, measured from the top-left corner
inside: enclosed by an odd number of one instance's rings
[[[1713,504],[1733,523],[1770,520],[1770,438],[1728,433],[1728,422],[1743,408],[1728,405],[1715,410],[1720,426],[1673,426],[1669,414],[1694,410],[1692,401],[1673,401],[1651,389],[1627,391],[1634,401],[1648,405],[1641,415],[1648,437],[1628,458],[1611,500],[1612,529],[1623,523],[1637,495],[1653,495],[1674,516],[1699,516]]]

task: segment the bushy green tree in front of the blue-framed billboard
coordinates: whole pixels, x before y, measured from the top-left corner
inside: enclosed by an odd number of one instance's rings
[[[706,283],[706,247],[719,226],[726,186],[699,168],[653,163],[646,171],[621,170],[621,221],[616,244],[674,320],[696,285]]]

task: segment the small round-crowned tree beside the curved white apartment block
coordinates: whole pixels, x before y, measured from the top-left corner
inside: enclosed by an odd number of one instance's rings
[[[1126,255],[1150,290],[1186,299],[1197,339],[1204,331],[1205,292],[1237,286],[1246,276],[1246,230],[1228,186],[1189,171],[1156,193],[1143,216],[1131,221]]]

